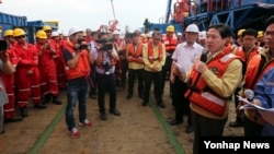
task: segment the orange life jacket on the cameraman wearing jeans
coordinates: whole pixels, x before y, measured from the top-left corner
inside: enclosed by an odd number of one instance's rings
[[[76,55],[76,50],[73,49],[73,45],[71,42],[67,42],[65,49],[72,56]],[[89,52],[85,49],[82,49],[77,66],[75,68],[69,68],[66,63],[65,70],[68,80],[77,79],[80,76],[88,78],[90,74]]]

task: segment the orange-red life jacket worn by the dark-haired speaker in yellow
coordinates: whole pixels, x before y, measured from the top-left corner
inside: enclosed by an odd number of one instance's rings
[[[239,58],[236,55],[230,54],[230,49],[225,49],[207,62],[207,68],[218,78],[221,78],[228,66],[235,59]],[[228,98],[224,98],[210,90],[204,79],[201,78],[201,73],[195,70],[191,72],[189,90],[184,96],[190,98],[193,104],[217,116],[224,116],[226,111],[226,100]]]

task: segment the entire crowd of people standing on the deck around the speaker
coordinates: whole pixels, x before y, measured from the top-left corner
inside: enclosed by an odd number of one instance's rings
[[[266,22],[265,31],[246,27],[233,38],[226,24],[216,24],[207,32],[199,32],[191,24],[175,34],[174,26],[162,35],[158,29],[151,34],[135,31],[124,39],[119,33],[73,27],[68,38],[44,26],[36,33],[36,44],[27,43],[21,28],[4,32],[9,43],[8,60],[14,73],[1,73],[9,102],[3,106],[4,122],[21,121],[27,116],[30,96],[34,108],[44,109],[49,100],[61,105],[59,91],[67,91],[66,123],[72,138],[80,137],[73,120],[73,109],[79,100],[79,125],[92,126],[87,118],[88,95],[96,96],[100,118],[107,120],[105,94],[110,94],[110,112],[121,116],[116,108],[117,86],[126,86],[126,98],[134,96],[134,83],[142,106],[149,104],[150,88],[159,107],[163,102],[165,79],[170,80],[170,96],[175,108],[171,126],[183,122],[187,116],[185,132],[194,131],[193,153],[198,154],[201,135],[221,137],[228,120],[228,104],[236,103],[237,117],[230,127],[244,128],[246,137],[270,134],[258,111],[239,111],[244,90],[255,92],[256,105],[271,108],[273,104],[273,50],[274,17]],[[0,57],[1,58],[1,57]],[[4,63],[7,59],[1,59]],[[266,76],[267,74],[267,76]],[[128,78],[128,79],[127,79]],[[23,81],[23,82],[22,82]],[[126,82],[127,81],[127,82]],[[16,96],[16,97],[15,97]],[[95,98],[95,97],[94,97]],[[15,117],[15,103],[21,108]],[[267,125],[269,126],[269,125]]]

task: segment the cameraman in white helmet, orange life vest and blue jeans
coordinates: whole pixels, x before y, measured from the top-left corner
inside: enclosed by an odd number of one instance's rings
[[[69,40],[64,47],[64,60],[66,62],[67,107],[66,123],[71,138],[79,138],[80,132],[76,127],[73,110],[77,103],[79,110],[79,125],[91,127],[87,118],[87,100],[89,95],[90,64],[93,63],[92,55],[88,50],[88,44],[83,42],[83,31],[79,27],[69,29]],[[82,40],[82,42],[80,42]]]

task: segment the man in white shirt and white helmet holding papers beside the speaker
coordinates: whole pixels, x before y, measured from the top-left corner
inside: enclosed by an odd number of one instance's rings
[[[193,63],[202,55],[204,49],[196,43],[198,38],[198,27],[195,24],[191,24],[185,29],[185,42],[176,46],[175,51],[172,55],[173,63],[171,66],[170,82],[173,83],[172,102],[175,107],[175,118],[170,122],[171,126],[175,126],[183,122],[183,115],[187,116],[186,133],[193,131],[190,114],[190,100],[184,97],[187,84],[180,80],[181,75],[189,72],[193,67]],[[180,67],[181,74],[174,72],[174,68]]]

